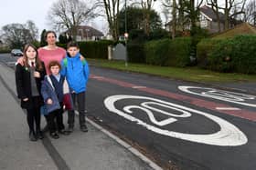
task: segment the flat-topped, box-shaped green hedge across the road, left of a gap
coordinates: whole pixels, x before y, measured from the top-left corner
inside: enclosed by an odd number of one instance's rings
[[[146,64],[162,66],[189,65],[190,38],[162,39],[145,44]]]

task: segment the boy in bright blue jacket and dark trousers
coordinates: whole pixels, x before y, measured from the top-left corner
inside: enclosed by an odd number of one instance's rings
[[[89,65],[85,59],[80,59],[80,48],[76,42],[69,42],[67,45],[67,55],[61,61],[61,75],[66,76],[72,100],[75,104],[78,103],[78,111],[80,118],[80,130],[88,132],[85,123],[85,92],[86,85],[89,79],[90,71]],[[75,112],[70,110],[68,112],[68,131],[71,133],[75,123]]]

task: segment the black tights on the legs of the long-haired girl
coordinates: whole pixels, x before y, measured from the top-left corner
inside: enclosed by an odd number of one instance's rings
[[[36,97],[32,98],[33,105],[31,108],[27,108],[27,124],[29,126],[30,132],[38,132],[41,130],[40,128],[40,107],[37,104],[34,104],[34,102],[37,102],[38,100]],[[35,131],[35,125],[36,125],[36,131]]]

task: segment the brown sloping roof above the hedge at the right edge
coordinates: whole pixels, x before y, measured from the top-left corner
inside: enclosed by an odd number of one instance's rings
[[[255,35],[256,27],[250,25],[248,23],[242,23],[240,25],[236,25],[235,27],[224,31],[218,35],[213,36],[213,38],[227,38],[232,37],[234,35]]]

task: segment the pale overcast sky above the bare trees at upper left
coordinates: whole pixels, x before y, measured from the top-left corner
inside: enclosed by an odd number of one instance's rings
[[[41,34],[43,29],[51,29],[48,25],[47,15],[50,6],[58,0],[1,0],[0,5],[0,28],[4,25],[18,23],[26,24],[32,20]],[[156,4],[157,6],[157,4]],[[107,24],[104,19],[97,18],[88,23],[104,34],[107,31]]]

